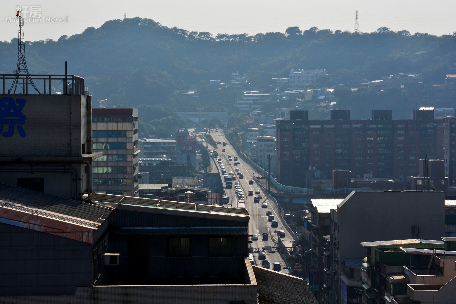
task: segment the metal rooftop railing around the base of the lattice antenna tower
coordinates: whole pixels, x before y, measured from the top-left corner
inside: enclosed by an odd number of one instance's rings
[[[16,88],[11,88],[14,79],[17,78]],[[1,94],[22,94],[22,95],[87,95],[88,90],[84,86],[84,78],[76,75],[57,74],[0,74]],[[39,90],[34,88],[33,84]],[[65,83],[67,85],[65,85]],[[29,91],[30,89],[30,91]],[[30,93],[29,93],[30,92]]]

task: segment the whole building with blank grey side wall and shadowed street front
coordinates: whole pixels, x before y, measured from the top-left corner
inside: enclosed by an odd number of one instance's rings
[[[337,292],[339,299],[348,289],[361,296],[361,268],[366,254],[361,242],[435,240],[443,235],[443,192],[353,191],[331,210],[330,254],[335,271],[331,289]]]

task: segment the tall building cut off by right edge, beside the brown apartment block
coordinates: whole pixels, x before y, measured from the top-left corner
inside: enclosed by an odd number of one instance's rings
[[[444,118],[443,160],[448,184],[456,186],[456,119],[454,116]]]

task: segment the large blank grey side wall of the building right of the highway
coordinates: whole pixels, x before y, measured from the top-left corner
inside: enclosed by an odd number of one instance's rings
[[[337,207],[339,261],[364,258],[360,242],[428,239],[445,236],[443,192],[355,192]],[[420,227],[412,234],[411,227]]]

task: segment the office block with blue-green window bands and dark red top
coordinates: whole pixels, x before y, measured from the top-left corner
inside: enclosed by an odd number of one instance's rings
[[[92,110],[93,151],[102,152],[93,163],[93,191],[138,196],[138,109]]]

